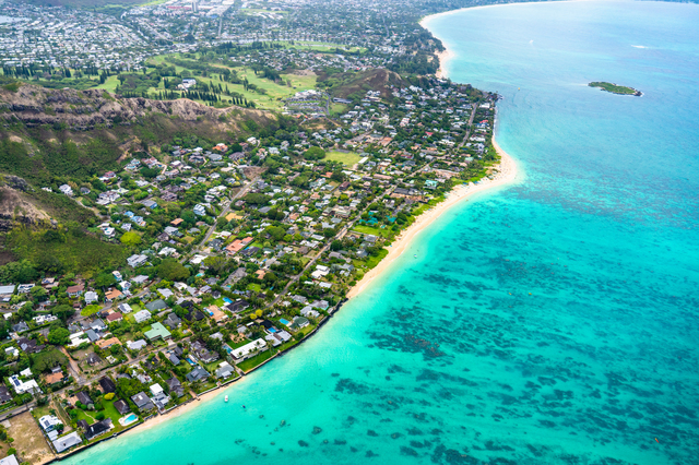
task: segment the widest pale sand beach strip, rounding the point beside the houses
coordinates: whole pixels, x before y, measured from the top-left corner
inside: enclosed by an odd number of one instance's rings
[[[493,146],[497,151],[498,155],[500,155],[500,164],[495,167],[493,171],[493,179],[484,178],[478,184],[472,183],[469,186],[458,186],[449,193],[447,200],[419,215],[415,219],[415,223],[413,223],[407,229],[405,229],[398,236],[395,241],[388,249],[389,254],[383,260],[381,260],[381,262],[376,265],[376,267],[371,269],[367,274],[365,274],[362,281],[357,283],[357,285],[354,286],[350,290],[350,293],[347,293],[347,298],[358,296],[362,290],[364,290],[366,286],[371,283],[371,281],[383,273],[391,265],[391,263],[395,261],[395,259],[401,257],[401,254],[410,246],[413,239],[423,229],[429,226],[447,210],[459,204],[476,192],[481,192],[498,186],[508,184],[514,180],[514,178],[517,177],[517,164],[511,156],[509,156],[502,148],[500,148],[497,142],[495,142],[495,139],[493,140]]]

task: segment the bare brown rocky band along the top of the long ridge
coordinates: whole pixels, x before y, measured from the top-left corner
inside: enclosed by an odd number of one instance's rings
[[[252,119],[269,118],[264,111],[244,108],[216,109],[196,102],[119,98],[106,91],[49,90],[23,84],[16,92],[0,88],[0,118],[19,119],[28,128],[64,124],[67,129],[86,131],[96,126],[130,126],[150,112],[161,112],[194,121],[200,117],[218,118],[242,111]]]

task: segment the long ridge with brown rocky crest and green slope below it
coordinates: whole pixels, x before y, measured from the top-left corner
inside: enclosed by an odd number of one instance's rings
[[[0,172],[40,187],[118,168],[129,153],[176,138],[223,142],[273,126],[273,114],[188,99],[119,98],[104,91],[0,87]],[[14,91],[14,92],[13,92]]]

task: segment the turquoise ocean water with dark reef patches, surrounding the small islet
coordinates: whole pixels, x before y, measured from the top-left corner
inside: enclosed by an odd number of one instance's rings
[[[699,463],[698,24],[656,2],[433,19],[449,75],[503,96],[519,182],[296,350],[66,463]]]

